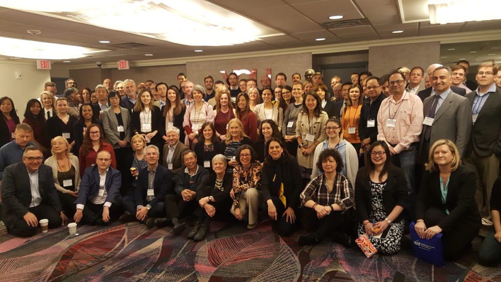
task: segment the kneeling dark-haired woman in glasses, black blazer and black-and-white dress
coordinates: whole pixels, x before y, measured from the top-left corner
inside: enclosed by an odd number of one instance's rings
[[[371,235],[369,240],[379,252],[393,254],[400,250],[404,231],[407,181],[402,170],[391,164],[385,142],[374,142],[368,155],[369,165],[360,169],[355,182],[358,235]]]

